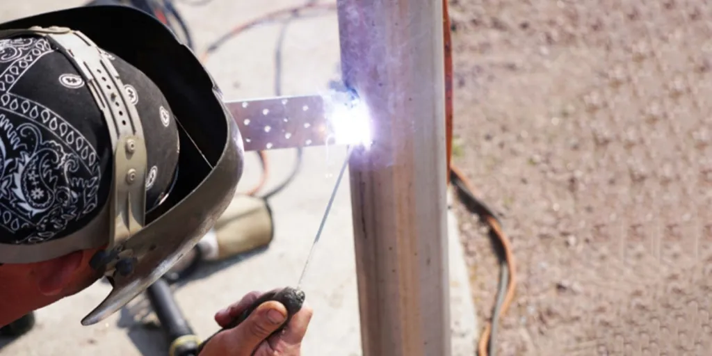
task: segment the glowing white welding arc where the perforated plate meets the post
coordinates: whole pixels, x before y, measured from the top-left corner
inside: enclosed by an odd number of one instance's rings
[[[350,103],[333,103],[329,121],[335,144],[370,147],[372,143],[370,119],[366,105],[357,100],[352,100]]]

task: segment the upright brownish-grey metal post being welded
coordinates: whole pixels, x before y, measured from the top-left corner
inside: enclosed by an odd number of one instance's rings
[[[338,0],[374,145],[350,160],[365,356],[451,354],[441,0]]]

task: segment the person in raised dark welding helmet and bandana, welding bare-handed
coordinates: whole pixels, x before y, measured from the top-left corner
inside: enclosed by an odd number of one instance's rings
[[[112,291],[82,323],[115,313],[211,229],[243,162],[214,80],[152,16],[91,6],[0,23],[0,325],[100,278]],[[311,314],[268,301],[200,355],[300,355]]]

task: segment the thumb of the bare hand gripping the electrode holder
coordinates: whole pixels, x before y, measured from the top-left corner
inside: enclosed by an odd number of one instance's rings
[[[268,301],[258,306],[248,318],[231,330],[216,335],[217,343],[224,345],[228,353],[236,355],[237,350],[252,355],[252,352],[269,335],[274,333],[287,319],[287,309],[279,302]],[[239,355],[243,355],[238,352]]]

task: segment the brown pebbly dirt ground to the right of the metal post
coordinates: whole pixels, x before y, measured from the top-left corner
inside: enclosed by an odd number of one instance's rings
[[[456,164],[503,219],[498,355],[712,355],[712,7],[451,0]],[[481,318],[498,267],[461,212]]]

